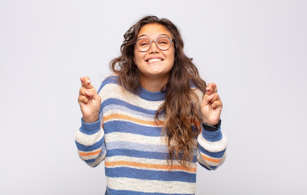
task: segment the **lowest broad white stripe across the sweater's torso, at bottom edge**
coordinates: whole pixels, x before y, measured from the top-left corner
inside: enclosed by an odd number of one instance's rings
[[[106,177],[107,185],[113,190],[128,190],[144,193],[195,194],[195,183],[179,181],[141,180],[125,177]]]

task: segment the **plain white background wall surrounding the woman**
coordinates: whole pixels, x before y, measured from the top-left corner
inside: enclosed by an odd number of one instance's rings
[[[0,194],[102,195],[79,160],[79,77],[98,88],[145,14],[181,29],[224,103],[228,157],[197,195],[307,194],[306,0],[0,0]]]

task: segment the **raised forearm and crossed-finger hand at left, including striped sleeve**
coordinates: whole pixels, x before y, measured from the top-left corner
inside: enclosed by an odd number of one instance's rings
[[[101,124],[101,97],[88,77],[81,77],[78,103],[82,112],[81,127],[76,133],[78,155],[90,167],[99,165],[105,155],[104,131]]]

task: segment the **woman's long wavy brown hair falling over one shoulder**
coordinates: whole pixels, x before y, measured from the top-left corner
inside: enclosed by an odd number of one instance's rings
[[[195,138],[200,134],[200,100],[191,88],[194,84],[205,92],[205,81],[199,76],[192,58],[183,52],[183,40],[179,31],[170,20],[145,16],[131,26],[124,34],[121,45],[121,56],[110,62],[110,69],[117,73],[119,83],[128,91],[138,93],[140,88],[140,72],[133,61],[134,42],[138,32],[147,24],[160,24],[171,32],[175,45],[174,66],[169,74],[168,83],[161,89],[165,92],[165,102],[155,113],[155,121],[163,124],[162,134],[168,144],[168,164],[173,165],[176,159],[181,165],[193,161],[196,147]],[[164,116],[164,121],[159,116]]]

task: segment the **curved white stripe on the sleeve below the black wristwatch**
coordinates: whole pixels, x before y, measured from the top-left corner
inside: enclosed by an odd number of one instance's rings
[[[227,148],[227,138],[222,132],[222,139],[218,141],[208,141],[203,138],[202,134],[198,135],[198,143],[209,152],[220,152]]]

